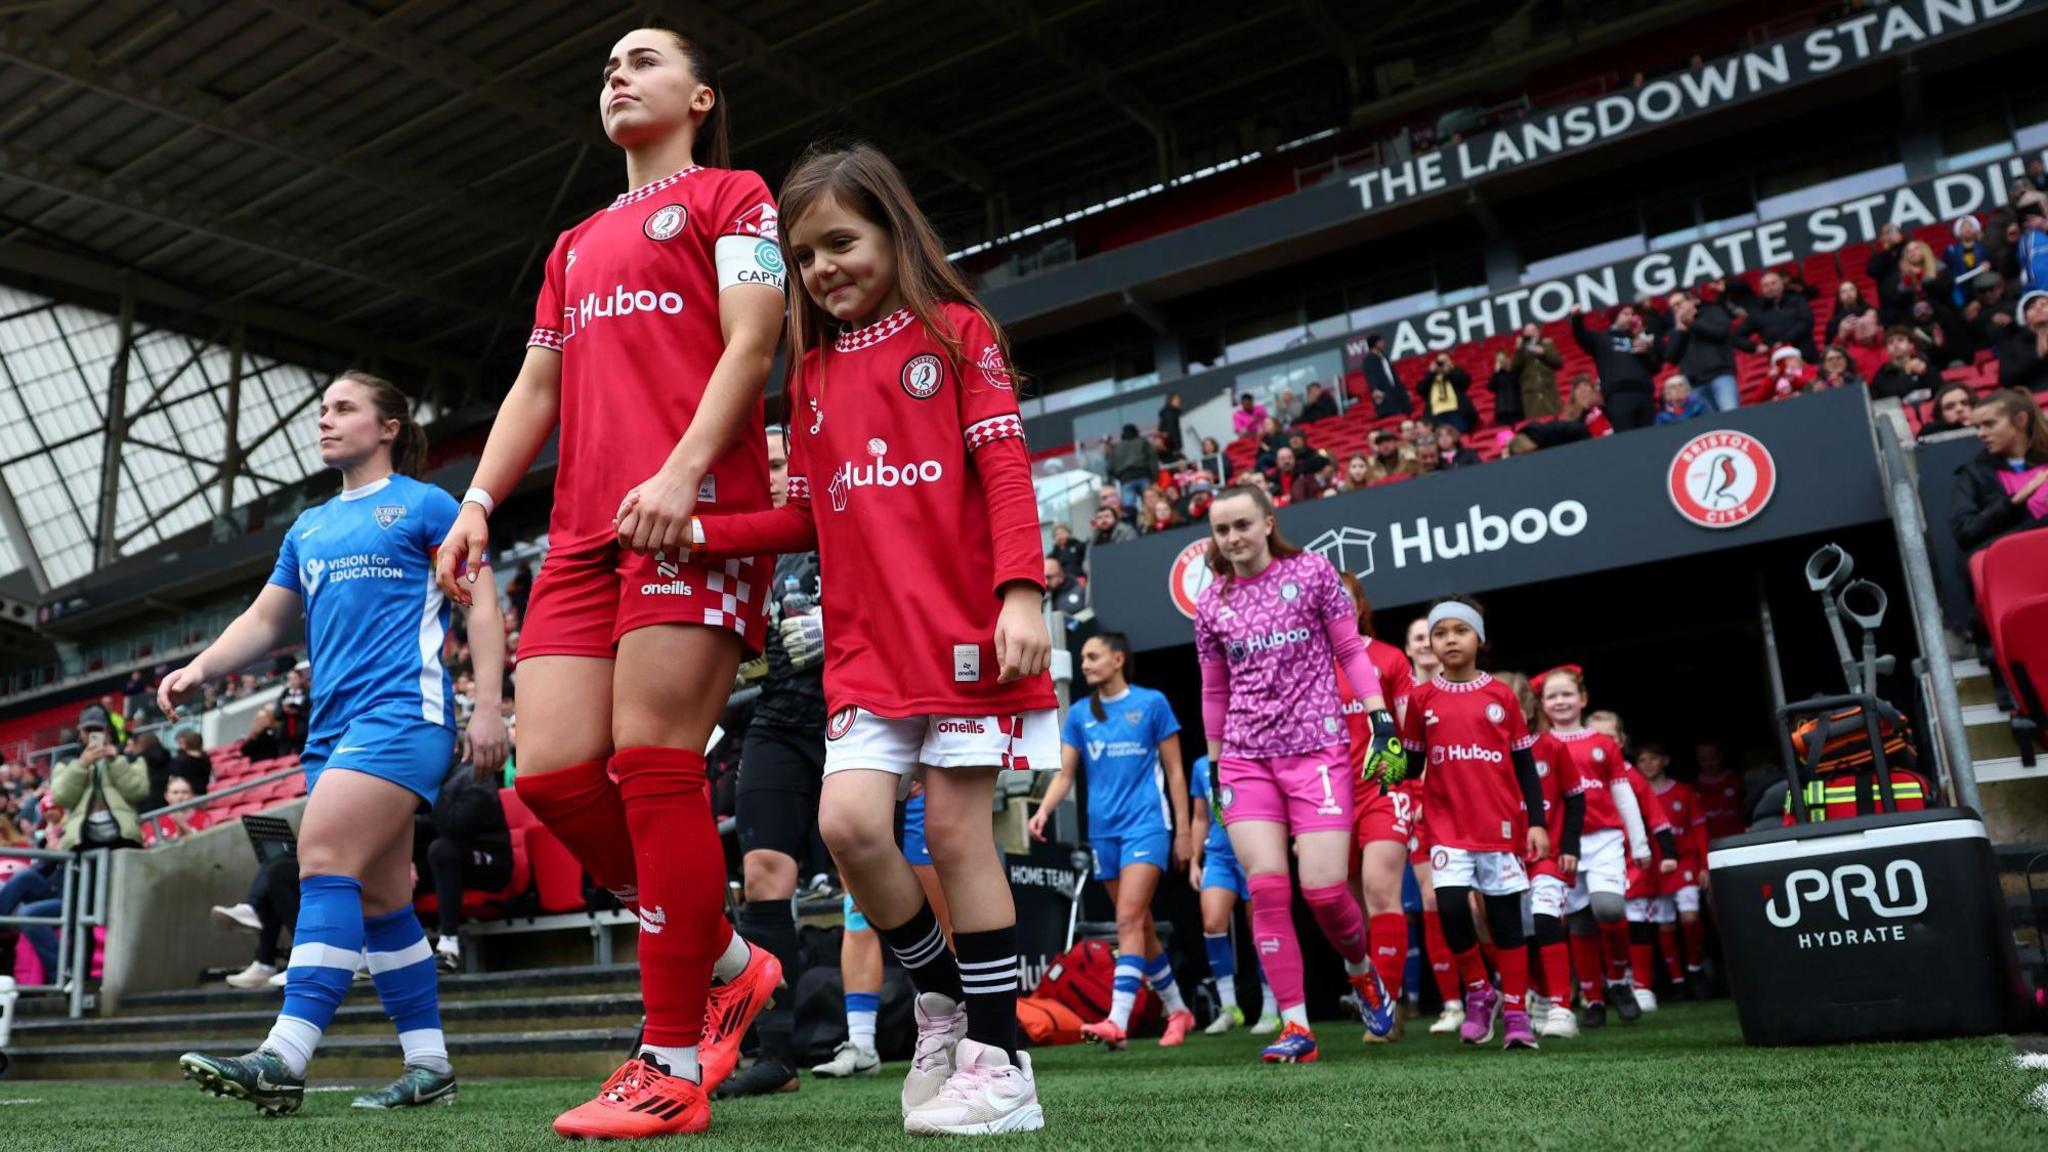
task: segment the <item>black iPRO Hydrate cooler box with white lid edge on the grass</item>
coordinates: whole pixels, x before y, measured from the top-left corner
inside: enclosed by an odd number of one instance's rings
[[[1749,1043],[2021,1027],[2019,957],[1974,812],[1792,824],[1714,840],[1706,859]]]

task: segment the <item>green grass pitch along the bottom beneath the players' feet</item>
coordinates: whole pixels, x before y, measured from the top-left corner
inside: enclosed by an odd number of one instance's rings
[[[1161,1050],[1092,1045],[1038,1054],[1047,1129],[1004,1148],[2048,1148],[2028,1107],[2048,1074],[2013,1068],[2003,1039],[1755,1050],[1735,1013],[1675,1004],[1542,1052],[1462,1050],[1411,1031],[1364,1047],[1356,1023],[1323,1023],[1323,1060],[1262,1066],[1243,1033]],[[903,1134],[901,1064],[874,1080],[821,1082],[784,1097],[715,1105],[690,1148],[932,1148]],[[317,1064],[315,1064],[317,1076]],[[319,1086],[317,1078],[313,1086]],[[356,1113],[346,1093],[311,1093],[266,1121],[190,1084],[0,1080],[8,1152],[334,1150],[459,1152],[559,1148],[547,1123],[586,1099],[588,1080],[465,1084],[455,1107]]]

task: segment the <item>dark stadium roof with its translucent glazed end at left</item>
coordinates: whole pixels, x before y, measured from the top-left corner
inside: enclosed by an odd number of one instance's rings
[[[621,191],[598,72],[639,25],[721,61],[737,166],[872,139],[958,248],[1348,127],[1382,64],[1485,72],[1503,25],[1724,6],[0,4],[0,529],[41,592],[317,467],[272,428],[317,373],[498,396],[553,238]]]

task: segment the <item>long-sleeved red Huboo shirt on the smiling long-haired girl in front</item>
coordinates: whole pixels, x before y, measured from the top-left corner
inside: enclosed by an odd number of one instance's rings
[[[817,549],[829,711],[1055,705],[1049,674],[995,683],[997,590],[1044,586],[1010,371],[979,312],[944,303],[936,320],[958,334],[958,357],[909,310],[807,353],[791,389],[788,502],[702,521],[715,556]]]

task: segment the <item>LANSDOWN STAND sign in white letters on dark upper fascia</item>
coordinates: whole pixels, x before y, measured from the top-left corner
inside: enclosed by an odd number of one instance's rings
[[[1698,70],[1659,76],[1628,92],[1536,113],[1522,123],[1362,172],[1352,176],[1350,187],[1358,193],[1358,209],[1372,211],[1925,47],[2044,4],[2048,0],[1896,0]]]

